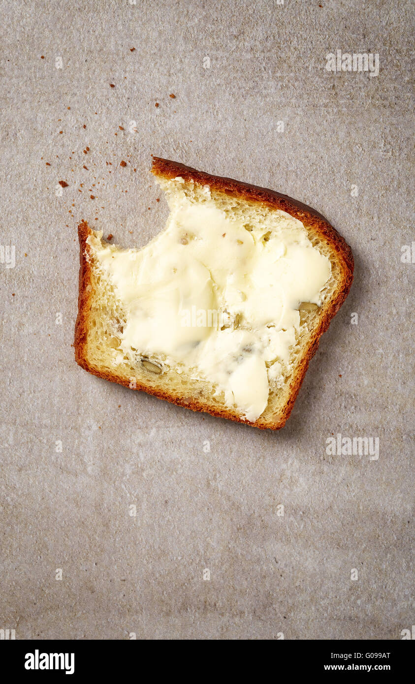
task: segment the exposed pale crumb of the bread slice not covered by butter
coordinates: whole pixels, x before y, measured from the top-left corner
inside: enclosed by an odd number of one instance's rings
[[[259,202],[242,198],[234,198],[223,192],[211,190],[193,182],[177,179],[158,179],[173,211],[177,201],[190,202],[191,205],[214,206],[232,224],[244,226],[244,230],[253,236],[255,241],[269,241],[281,231],[281,217],[284,212],[268,208]],[[209,230],[209,226],[205,226]],[[177,399],[181,404],[198,407],[212,412],[227,412],[241,419],[251,419],[257,425],[276,425],[290,397],[292,384],[299,367],[303,363],[310,343],[314,339],[320,320],[331,300],[336,297],[340,287],[341,274],[338,257],[334,248],[323,239],[317,230],[303,228],[310,244],[327,257],[330,274],[320,289],[318,305],[300,304],[299,324],[294,328],[294,340],[290,346],[288,360],[276,359],[277,373],[268,373],[268,401],[260,416],[249,416],[244,408],[229,401],[229,395],[212,380],[208,374],[201,376],[195,369],[183,367],[177,372],[177,364],[171,363],[168,354],[149,354],[148,350],[138,349],[131,345],[126,348],[122,344],[123,334],[129,321],[129,307],[119,296],[114,280],[100,261],[103,250],[116,254],[118,248],[106,246],[101,242],[101,233],[90,231],[88,237],[87,259],[91,267],[90,276],[90,312],[88,314],[88,334],[84,344],[84,356],[88,365],[101,374],[116,376],[128,380],[131,387],[143,386],[166,398]],[[156,237],[155,240],[158,238]],[[221,246],[218,245],[218,249]],[[145,248],[144,248],[145,249]],[[130,250],[130,252],[141,250]],[[231,265],[229,265],[231,269]],[[231,325],[249,329],[249,320],[232,319]],[[146,363],[147,362],[147,363]],[[221,358],[217,359],[221,363]],[[267,362],[269,369],[270,362]],[[158,368],[162,372],[158,371]],[[197,369],[196,369],[197,370]],[[253,419],[253,420],[252,420]]]

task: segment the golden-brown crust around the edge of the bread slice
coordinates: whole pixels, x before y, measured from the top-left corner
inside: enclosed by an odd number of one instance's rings
[[[165,399],[168,402],[177,404],[178,406],[184,406],[185,408],[190,408],[194,411],[201,411],[210,413],[210,415],[226,418],[237,423],[243,423],[244,425],[251,425],[260,429],[271,429],[279,430],[283,428],[292,407],[294,406],[295,399],[299,393],[299,389],[304,380],[305,373],[307,372],[310,359],[314,356],[317,351],[318,343],[320,337],[329,327],[331,319],[336,315],[340,306],[347,298],[349,293],[351,283],[353,281],[353,254],[351,248],[347,242],[342,238],[341,235],[329,224],[327,219],[323,215],[314,211],[311,207],[307,207],[302,202],[297,202],[287,195],[280,194],[273,190],[258,187],[256,185],[249,185],[249,183],[242,183],[240,181],[235,181],[234,179],[222,178],[221,176],[212,176],[202,171],[197,171],[184,164],[178,163],[176,161],[171,161],[169,159],[162,159],[160,157],[153,157],[153,166],[151,172],[155,176],[160,176],[164,179],[174,179],[177,176],[181,176],[185,181],[192,181],[198,185],[209,185],[211,189],[218,192],[225,193],[229,196],[236,198],[242,198],[248,200],[249,202],[259,202],[262,205],[271,207],[272,209],[281,209],[286,211],[294,218],[299,219],[303,222],[305,228],[310,227],[316,231],[320,237],[328,241],[331,248],[336,252],[336,257],[338,259],[338,265],[340,267],[341,280],[338,295],[329,302],[325,314],[320,320],[320,324],[316,328],[310,346],[306,354],[301,359],[299,367],[296,371],[296,375],[292,382],[290,383],[290,396],[282,415],[274,423],[270,421],[265,421],[259,417],[255,423],[249,423],[245,421],[242,417],[235,415],[229,409],[218,409],[216,407],[208,407],[206,404],[197,402],[196,400],[187,400],[185,397],[175,397],[159,389],[155,389],[151,386],[140,384],[137,382],[136,387],[138,391],[144,391],[148,394],[152,394],[160,399]],[[129,378],[121,378],[119,376],[113,375],[106,371],[99,371],[92,367],[86,358],[85,347],[86,339],[88,336],[88,322],[91,310],[91,298],[93,295],[92,291],[92,267],[90,265],[90,247],[88,246],[86,240],[89,235],[92,235],[92,231],[88,226],[86,221],[81,221],[78,226],[78,237],[79,237],[79,296],[78,296],[78,315],[75,324],[75,360],[77,363],[84,368],[86,371],[93,373],[99,378],[104,378],[105,380],[110,380],[111,382],[117,382],[125,387],[129,386]]]

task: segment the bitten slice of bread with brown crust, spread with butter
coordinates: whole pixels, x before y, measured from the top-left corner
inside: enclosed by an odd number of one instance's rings
[[[171,215],[149,245],[121,250],[78,226],[77,363],[179,406],[278,430],[349,293],[351,249],[286,195],[157,157],[152,173]],[[211,307],[225,319],[199,320]]]

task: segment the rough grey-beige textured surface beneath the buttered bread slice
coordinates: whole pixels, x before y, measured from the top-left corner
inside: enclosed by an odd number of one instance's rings
[[[1,2],[0,242],[16,266],[0,264],[0,627],[16,638],[377,640],[414,622],[414,5],[320,5]],[[327,73],[336,49],[379,53],[379,76]],[[351,293],[280,432],[75,364],[77,223],[123,246],[155,235],[151,153],[303,200],[353,248]],[[327,456],[338,432],[379,436],[379,460]]]

